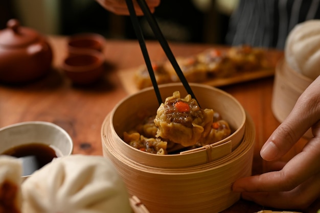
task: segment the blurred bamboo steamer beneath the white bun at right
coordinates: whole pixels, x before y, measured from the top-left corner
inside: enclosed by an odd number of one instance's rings
[[[312,79],[293,70],[284,58],[279,60],[273,84],[271,110],[280,123],[286,119],[295,102],[312,81]],[[311,129],[304,134],[304,137],[312,137]]]

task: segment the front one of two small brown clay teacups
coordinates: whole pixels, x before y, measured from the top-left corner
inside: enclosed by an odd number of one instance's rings
[[[79,50],[76,54],[70,54],[64,59],[61,69],[73,83],[91,84],[103,74],[103,54],[98,51]]]

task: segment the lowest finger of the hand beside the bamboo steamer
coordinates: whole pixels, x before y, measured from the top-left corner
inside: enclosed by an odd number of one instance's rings
[[[242,193],[242,198],[274,208],[305,209],[320,196],[319,188],[320,173],[288,192],[245,192]]]

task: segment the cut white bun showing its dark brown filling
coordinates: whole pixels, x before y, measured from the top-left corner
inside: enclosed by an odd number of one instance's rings
[[[0,156],[0,212],[20,213],[22,162]]]

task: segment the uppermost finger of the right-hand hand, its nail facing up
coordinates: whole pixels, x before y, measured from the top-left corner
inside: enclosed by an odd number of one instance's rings
[[[320,135],[319,85],[320,77],[304,91],[286,120],[271,134],[260,152],[263,159],[282,157],[310,127],[313,135]]]

